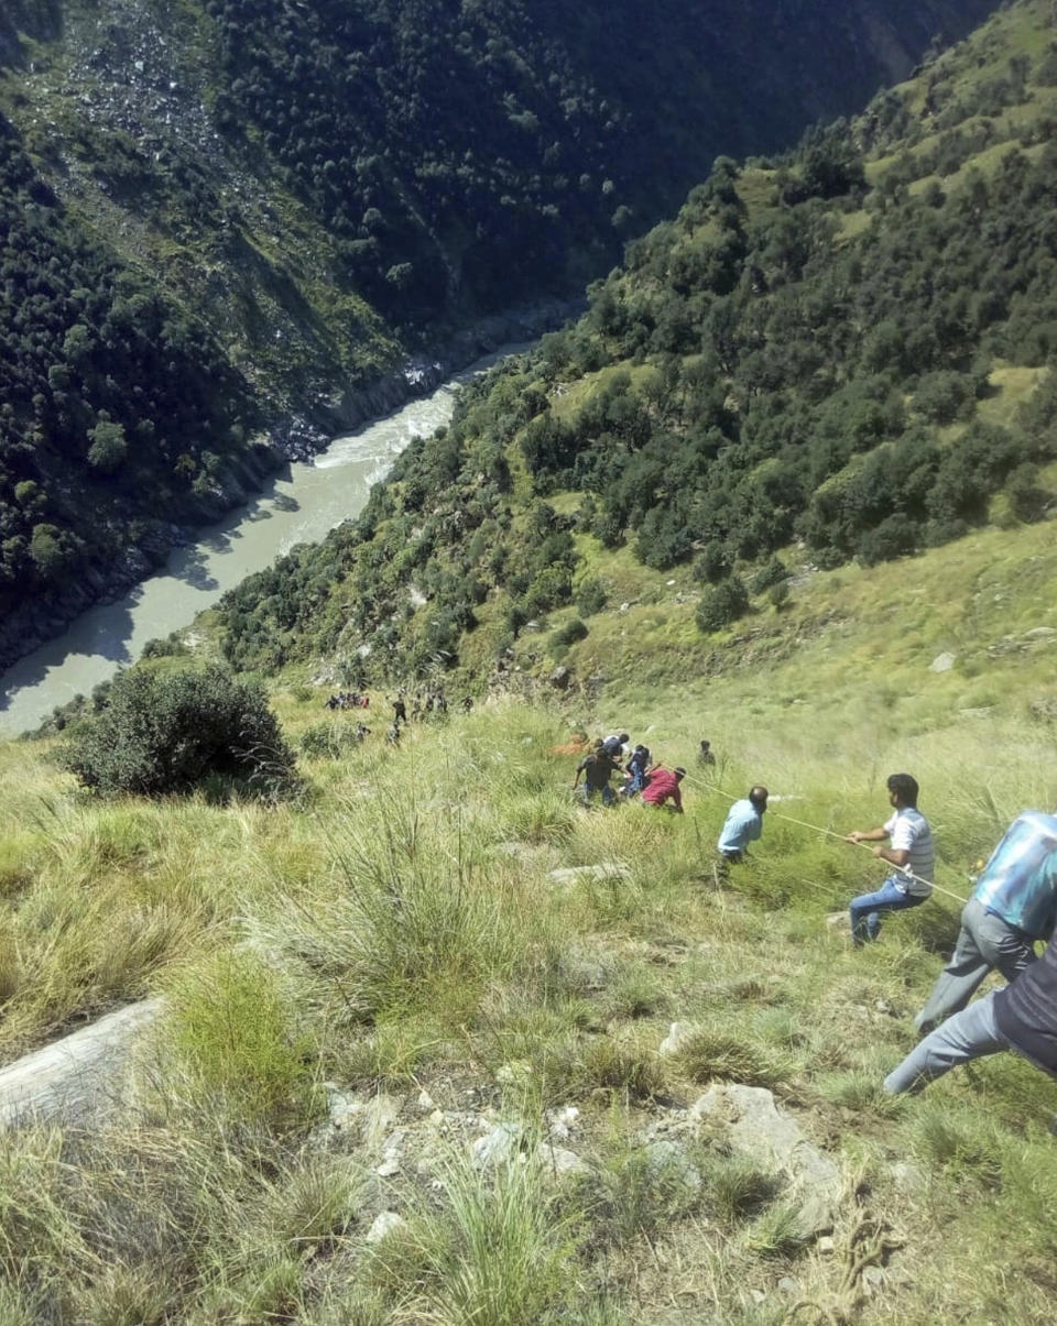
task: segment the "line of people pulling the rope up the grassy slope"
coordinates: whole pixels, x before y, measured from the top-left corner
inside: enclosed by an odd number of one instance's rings
[[[609,780],[619,768],[627,733],[599,741],[577,768],[585,774],[584,796],[601,790],[615,800]],[[702,756],[708,744],[702,743]],[[650,753],[635,747],[625,765],[625,790],[634,786],[643,801],[682,813],[679,784],[686,770],[649,766]],[[641,769],[646,769],[645,781]],[[655,789],[655,790],[653,790]],[[932,830],[918,809],[918,781],[908,773],[886,780],[891,814],[873,829],[853,829],[850,843],[874,843],[873,854],[893,867],[879,886],[849,904],[851,941],[875,940],[887,912],[918,907],[932,894]],[[743,862],[749,843],[763,835],[768,789],[752,786],[736,801],[716,843],[724,862]],[[960,1063],[1015,1050],[1044,1073],[1057,1077],[1057,814],[1025,810],[1007,830],[976,879],[962,912],[962,928],[950,961],[914,1025],[922,1040],[885,1079],[893,1095],[919,1091]],[[1034,945],[1045,940],[1041,957]],[[1007,980],[1003,989],[972,1001],[989,972]],[[971,1002],[972,1001],[972,1002]]]

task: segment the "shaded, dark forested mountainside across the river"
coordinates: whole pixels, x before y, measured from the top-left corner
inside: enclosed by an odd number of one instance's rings
[[[991,8],[7,4],[0,658],[231,503],[256,430],[336,428],[423,341],[582,289],[716,151]]]

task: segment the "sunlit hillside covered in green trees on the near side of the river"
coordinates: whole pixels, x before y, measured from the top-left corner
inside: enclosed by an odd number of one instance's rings
[[[576,599],[561,648],[625,544],[692,565],[714,631],[780,603],[790,556],[869,565],[1046,514],[1056,85],[1050,7],[1019,5],[789,156],[719,160],[355,525],[228,597],[229,656],[415,675]]]

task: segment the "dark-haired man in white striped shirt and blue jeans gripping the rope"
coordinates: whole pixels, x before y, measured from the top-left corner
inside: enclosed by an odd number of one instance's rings
[[[893,773],[886,786],[893,815],[877,829],[854,829],[845,839],[878,843],[889,839],[887,847],[874,847],[874,855],[898,867],[877,892],[851,899],[851,939],[857,948],[877,939],[882,912],[916,907],[932,892],[932,830],[918,810],[918,781],[908,773]]]

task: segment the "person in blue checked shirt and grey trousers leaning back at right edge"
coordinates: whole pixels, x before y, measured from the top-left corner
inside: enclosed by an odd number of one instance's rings
[[[950,963],[914,1020],[926,1036],[960,1012],[988,972],[1015,981],[1057,922],[1057,817],[1025,810],[991,854],[962,912]]]

